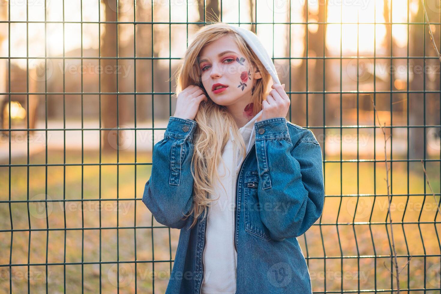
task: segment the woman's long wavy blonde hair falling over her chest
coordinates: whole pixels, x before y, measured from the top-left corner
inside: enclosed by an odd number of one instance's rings
[[[265,93],[271,76],[243,37],[224,22],[210,23],[195,33],[194,40],[188,46],[182,58],[182,63],[177,70],[176,97],[190,85],[197,85],[204,89],[201,70],[197,62],[199,52],[205,45],[225,35],[232,37],[245,58],[250,61],[254,68],[257,67],[262,76],[262,78],[253,79],[254,91],[251,102],[254,104],[253,115],[256,115],[262,110],[262,101],[266,97]],[[194,153],[191,159],[191,174],[194,179],[193,203],[190,212],[185,215],[185,219],[187,219],[188,216],[194,213],[194,220],[190,228],[194,227],[202,212],[204,212],[204,217],[206,216],[207,206],[211,206],[210,203],[218,199],[208,197],[208,193],[213,193],[212,182],[214,181],[210,181],[210,179],[220,179],[217,166],[221,160],[223,161],[222,153],[230,138],[230,127],[232,127],[236,142],[241,146],[242,156],[247,151],[243,137],[231,113],[223,105],[214,103],[208,95],[206,96],[208,100],[201,102],[194,118],[197,122],[197,128],[194,133]]]

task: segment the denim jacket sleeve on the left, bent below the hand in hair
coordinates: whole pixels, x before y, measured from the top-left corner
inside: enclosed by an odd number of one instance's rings
[[[192,205],[191,157],[196,122],[171,116],[164,139],[153,146],[152,171],[144,187],[142,202],[155,219],[168,227],[181,229]]]

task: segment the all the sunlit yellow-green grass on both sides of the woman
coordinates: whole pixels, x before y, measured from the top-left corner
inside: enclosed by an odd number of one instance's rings
[[[81,152],[67,151],[67,163],[80,164],[82,162]],[[394,158],[396,158],[394,156]],[[327,160],[338,160],[339,158],[326,158]],[[379,159],[377,157],[377,159]],[[135,160],[134,153],[120,152],[120,163],[132,163]],[[138,163],[151,162],[151,154],[137,155]],[[87,152],[84,154],[84,163],[99,162],[99,154]],[[103,153],[103,163],[116,162],[116,153]],[[13,164],[26,164],[27,159],[14,159]],[[45,164],[45,153],[39,153],[30,158],[31,164]],[[49,164],[62,164],[63,152],[50,151],[48,156]],[[340,169],[341,167],[341,169]],[[375,178],[374,178],[375,167]],[[13,264],[60,263],[60,265],[49,265],[48,291],[51,293],[63,293],[64,287],[68,293],[80,293],[82,287],[86,293],[96,293],[100,287],[100,264],[72,264],[84,262],[99,262],[101,249],[101,287],[103,293],[116,292],[116,265],[114,262],[134,261],[135,244],[136,260],[138,263],[120,264],[120,293],[135,292],[135,275],[137,277],[136,289],[141,293],[153,292],[153,250],[155,261],[167,261],[174,259],[178,244],[179,230],[168,228],[152,229],[137,228],[136,237],[133,228],[152,224],[152,217],[149,210],[142,203],[144,185],[150,176],[150,165],[115,165],[101,166],[101,188],[99,166],[67,166],[64,167],[30,167],[29,178],[27,167],[11,168],[11,200],[45,199],[46,187],[47,197],[52,200],[74,200],[48,202],[48,214],[44,205],[29,203],[11,203],[11,216],[15,231],[12,242],[11,262]],[[136,179],[135,179],[136,169]],[[46,177],[47,170],[47,177]],[[429,174],[431,184],[435,193],[440,192],[440,165],[439,162],[428,162],[426,170]],[[364,222],[384,222],[387,215],[386,196],[363,196],[370,194],[386,194],[385,166],[382,162],[344,162],[325,164],[325,189],[326,201],[321,227],[313,226],[304,236],[299,237],[303,253],[306,257],[340,257],[326,260],[326,272],[324,272],[323,259],[309,259],[308,266],[314,291],[340,290],[343,282],[344,290],[374,289],[375,280],[377,289],[390,288],[391,275],[383,265],[390,268],[390,258],[377,257],[376,263],[372,255],[389,255],[388,231],[389,226],[385,224],[366,224]],[[341,174],[341,176],[340,176]],[[407,194],[424,193],[424,177],[419,162],[410,163],[410,172],[407,175],[407,163],[394,163],[392,165],[393,194],[404,194],[392,198],[392,220],[398,222],[432,222],[437,213],[436,201],[426,186],[426,197],[422,195],[410,196]],[[46,184],[47,182],[47,184]],[[28,185],[29,183],[29,185]],[[9,168],[0,168],[0,200],[9,199]],[[408,188],[407,188],[408,186]],[[29,189],[29,191],[28,191]],[[101,191],[101,194],[100,194]],[[341,195],[344,197],[341,197]],[[355,212],[355,205],[358,207]],[[98,209],[101,197],[101,218]],[[83,201],[81,199],[93,199]],[[119,205],[116,206],[120,199]],[[124,200],[134,199],[137,200]],[[110,199],[110,200],[109,200]],[[438,200],[437,196],[437,200]],[[424,202],[423,202],[424,201]],[[405,205],[407,203],[407,208]],[[424,203],[424,206],[422,204]],[[421,207],[422,206],[422,207]],[[83,210],[81,209],[83,207]],[[65,209],[64,209],[65,208]],[[119,209],[118,209],[119,208]],[[371,215],[371,209],[373,212]],[[119,210],[119,211],[118,211]],[[136,213],[135,213],[136,210]],[[66,215],[64,216],[64,211]],[[10,205],[0,204],[0,230],[10,230]],[[100,226],[101,219],[101,240],[98,229],[87,229]],[[439,220],[439,216],[437,218]],[[346,223],[358,222],[356,225]],[[325,223],[342,223],[336,225],[325,225]],[[60,229],[49,231],[49,237],[45,231],[49,228]],[[153,224],[161,226],[156,221]],[[119,226],[119,238],[116,229],[109,227]],[[68,230],[64,230],[64,227]],[[29,227],[32,229],[44,229],[32,231],[29,235]],[[81,230],[85,227],[85,230]],[[437,225],[439,231],[440,227]],[[66,235],[65,235],[66,232]],[[170,232],[170,234],[169,234]],[[393,226],[395,245],[398,254],[440,254],[440,246],[437,239],[437,231],[434,223],[423,224],[397,224]],[[404,238],[404,235],[406,238]],[[390,230],[389,230],[390,236]],[[47,242],[49,238],[49,242]],[[117,242],[119,240],[119,242]],[[306,242],[305,242],[306,240]],[[406,241],[407,240],[407,243]],[[29,242],[30,241],[30,242]],[[101,245],[101,246],[100,246]],[[119,248],[118,248],[119,245]],[[170,247],[171,246],[171,247]],[[46,247],[48,254],[46,257]],[[66,249],[64,249],[66,247]],[[0,264],[10,263],[11,233],[2,232],[0,236]],[[83,252],[83,254],[82,254]],[[356,258],[367,256],[366,258]],[[355,258],[354,258],[355,257]],[[400,258],[400,264],[405,264],[406,258]],[[67,265],[63,265],[66,262]],[[424,271],[432,264],[440,262],[439,257],[414,257],[409,263],[410,287],[424,287]],[[426,264],[425,264],[426,263]],[[341,267],[343,264],[343,268]],[[170,262],[155,262],[155,293],[164,293],[168,283],[168,276],[171,269]],[[377,269],[375,274],[374,269]],[[439,270],[439,264],[437,265]],[[33,265],[29,270],[32,275],[29,279],[30,290],[35,292],[46,291],[46,267],[45,265]],[[15,266],[12,268],[12,291],[22,293],[28,290],[26,278],[28,267]],[[339,275],[344,272],[343,277]],[[64,278],[65,272],[65,278]],[[0,267],[1,279],[0,289],[9,293],[9,267]],[[427,270],[426,288],[439,287],[439,274]],[[376,278],[376,279],[375,279]],[[400,275],[401,287],[407,287],[407,268]],[[64,286],[65,279],[65,286]],[[83,282],[82,282],[83,281]],[[412,292],[415,293],[415,292]],[[430,293],[427,291],[426,293]]]

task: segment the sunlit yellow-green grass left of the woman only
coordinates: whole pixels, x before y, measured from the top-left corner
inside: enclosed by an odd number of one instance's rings
[[[76,153],[68,151],[66,155],[69,163],[81,163],[81,152]],[[134,154],[120,153],[120,163],[134,162]],[[151,154],[137,156],[139,163],[151,162]],[[97,163],[99,157],[95,153],[84,154],[85,163]],[[102,155],[103,163],[116,162],[116,153]],[[14,164],[26,164],[26,158],[13,161]],[[30,159],[30,163],[45,163],[45,153],[39,153]],[[63,163],[63,152],[51,151],[48,156],[49,164]],[[136,168],[136,181],[135,181]],[[51,293],[64,292],[64,261],[68,264],[66,271],[66,292],[81,293],[82,284],[84,292],[97,293],[100,287],[100,265],[99,264],[69,264],[100,261],[110,262],[118,260],[117,240],[119,239],[119,260],[135,260],[135,242],[136,242],[136,260],[135,263],[120,264],[120,293],[135,292],[135,273],[137,275],[137,290],[141,293],[152,293],[152,279],[155,277],[155,292],[163,293],[167,287],[166,279],[170,272],[170,262],[155,263],[153,272],[153,249],[155,260],[170,260],[174,258],[179,238],[179,230],[170,229],[171,250],[169,246],[169,229],[138,228],[135,230],[119,229],[119,238],[117,238],[116,229],[106,229],[108,227],[146,227],[152,225],[152,217],[149,210],[142,203],[142,193],[144,185],[149,179],[150,165],[103,165],[101,167],[101,196],[100,196],[100,173],[99,166],[84,166],[83,173],[81,166],[67,166],[66,176],[64,178],[64,168],[47,168],[47,195],[48,199],[60,200],[69,199],[77,201],[48,202],[48,223],[49,228],[62,230],[49,231],[49,242],[46,241],[46,231],[32,231],[29,248],[29,232],[14,232],[12,242],[12,263],[27,264],[28,255],[30,264],[46,263],[46,246],[48,246],[48,263],[61,263],[61,265],[48,266],[48,290]],[[46,189],[46,167],[29,168],[29,198],[45,199]],[[9,169],[1,168],[1,187],[0,199],[2,201],[9,199]],[[119,175],[119,177],[117,176]],[[65,182],[65,187],[64,187]],[[83,188],[82,188],[83,187]],[[136,191],[135,191],[136,187]],[[28,195],[28,177],[27,167],[14,167],[11,169],[11,200],[26,200]],[[101,197],[101,242],[100,231],[97,229],[81,230],[82,227],[93,228],[100,227],[100,206],[99,201],[83,201],[81,199],[99,199]],[[116,199],[119,198],[117,206]],[[123,199],[134,200],[123,200]],[[83,211],[82,211],[83,207]],[[135,208],[136,207],[136,208]],[[63,209],[65,208],[65,209]],[[136,209],[136,214],[135,214]],[[13,227],[15,230],[45,229],[46,210],[44,205],[37,208],[37,203],[30,202],[28,207],[25,202],[12,203],[11,214]],[[64,216],[66,211],[66,217]],[[0,204],[0,212],[3,217],[0,219],[1,230],[11,229],[11,220],[9,204]],[[118,223],[117,223],[118,220]],[[74,230],[67,230],[64,235],[64,223],[66,227]],[[29,225],[30,223],[30,225]],[[154,225],[162,226],[154,221]],[[80,230],[78,230],[80,228]],[[75,230],[77,229],[77,230]],[[65,239],[66,238],[66,239]],[[66,242],[65,242],[66,240]],[[64,250],[66,246],[66,250]],[[0,237],[0,264],[10,263],[11,233],[3,232]],[[82,251],[84,252],[82,256]],[[65,253],[65,254],[64,254]],[[1,267],[0,288],[9,293],[9,267]],[[23,293],[27,291],[28,279],[27,266],[17,266],[12,268],[12,291]],[[31,266],[31,272],[38,273],[29,279],[30,290],[45,292],[46,268],[45,266]],[[101,289],[103,293],[116,292],[116,264],[103,263],[101,265]],[[82,279],[84,282],[82,283]],[[128,283],[130,281],[130,283]]]

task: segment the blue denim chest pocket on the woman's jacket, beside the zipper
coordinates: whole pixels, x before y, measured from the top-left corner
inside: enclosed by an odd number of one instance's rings
[[[245,186],[244,186],[244,218],[245,231],[255,234],[260,238],[269,241],[269,231],[260,219],[260,212],[265,207],[259,202],[257,195],[257,188],[259,184],[258,171],[245,172]]]

